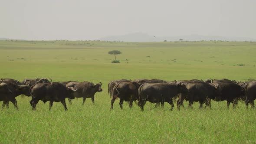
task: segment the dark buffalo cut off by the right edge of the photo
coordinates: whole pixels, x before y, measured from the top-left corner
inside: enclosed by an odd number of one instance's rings
[[[248,108],[248,104],[251,104],[251,108],[254,108],[254,100],[256,99],[256,81],[251,81],[246,84],[245,87],[246,93],[246,108]]]

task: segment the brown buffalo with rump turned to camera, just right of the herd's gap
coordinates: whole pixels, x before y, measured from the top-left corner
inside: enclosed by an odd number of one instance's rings
[[[123,109],[123,102],[128,101],[130,108],[132,107],[133,101],[138,100],[138,88],[140,84],[137,82],[119,82],[114,86],[112,92],[111,108],[113,109],[113,104],[116,98],[120,98],[120,108]]]

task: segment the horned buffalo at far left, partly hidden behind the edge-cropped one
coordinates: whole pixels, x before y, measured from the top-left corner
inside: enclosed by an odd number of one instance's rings
[[[10,88],[10,90],[12,91],[14,96],[14,100],[12,100],[12,102],[14,103],[17,103],[15,97],[18,95],[30,96],[29,82],[27,83],[27,85],[23,85],[22,83],[20,83],[15,79],[1,79],[1,82],[5,82],[8,85],[8,88]],[[7,108],[9,108],[9,101],[3,100],[3,107],[5,107],[5,105]],[[17,104],[15,104],[15,107],[18,108],[16,105]]]

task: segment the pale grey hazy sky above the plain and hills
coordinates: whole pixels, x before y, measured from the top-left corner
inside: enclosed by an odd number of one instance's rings
[[[138,32],[256,39],[256,0],[0,0],[0,38],[85,40]]]

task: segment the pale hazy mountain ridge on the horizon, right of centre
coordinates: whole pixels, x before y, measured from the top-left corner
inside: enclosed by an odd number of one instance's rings
[[[228,37],[228,36],[203,36],[203,35],[187,35],[187,36],[150,36],[146,33],[131,33],[120,36],[106,36],[98,39],[103,41],[124,41],[124,42],[163,42],[167,41],[201,41],[201,40],[223,40],[223,41],[256,41],[256,39],[246,37]]]

